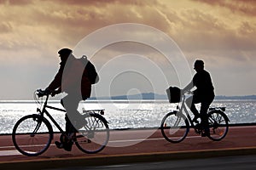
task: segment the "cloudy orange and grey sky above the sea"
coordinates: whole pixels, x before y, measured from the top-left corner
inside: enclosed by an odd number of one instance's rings
[[[82,50],[96,65],[93,96],[183,88],[195,75],[195,59],[204,60],[216,95],[256,94],[253,0],[0,0],[0,18],[1,100],[32,99],[34,90],[46,88],[61,48]],[[115,37],[125,41],[98,47]],[[153,43],[170,47],[168,56]],[[177,69],[181,58],[186,62]]]

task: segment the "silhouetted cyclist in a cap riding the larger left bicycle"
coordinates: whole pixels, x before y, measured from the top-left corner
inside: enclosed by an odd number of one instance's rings
[[[67,96],[61,99],[61,105],[67,111],[66,134],[70,136],[86,123],[77,109],[81,100],[90,98],[91,83],[84,65],[73,56],[71,49],[62,48],[58,54],[61,58],[59,71],[45,90],[49,91],[52,96],[62,92],[67,93]],[[71,141],[55,142],[58,148],[67,151],[72,149],[72,144]]]

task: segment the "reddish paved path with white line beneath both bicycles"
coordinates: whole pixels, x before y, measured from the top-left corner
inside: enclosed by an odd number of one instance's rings
[[[67,167],[74,165],[109,165],[139,161],[167,161],[173,159],[212,156],[256,155],[256,126],[230,127],[222,141],[202,138],[190,130],[183,142],[172,144],[163,139],[160,130],[111,131],[108,147],[97,154],[56,149],[52,144],[41,156],[22,156],[15,150],[10,135],[0,136],[0,168]],[[55,140],[58,140],[55,134]],[[53,140],[53,142],[55,141]]]

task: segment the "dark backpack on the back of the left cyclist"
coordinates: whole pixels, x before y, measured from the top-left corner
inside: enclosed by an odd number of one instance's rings
[[[83,55],[83,57],[81,57],[81,61],[85,65],[85,70],[88,73],[90,83],[96,84],[97,82],[99,82],[99,76],[96,72],[95,66],[90,62],[90,60],[88,60],[87,57]]]

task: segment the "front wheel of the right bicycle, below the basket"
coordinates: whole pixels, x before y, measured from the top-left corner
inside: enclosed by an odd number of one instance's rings
[[[161,122],[161,133],[168,142],[179,143],[189,133],[189,122],[180,112],[170,112]]]

